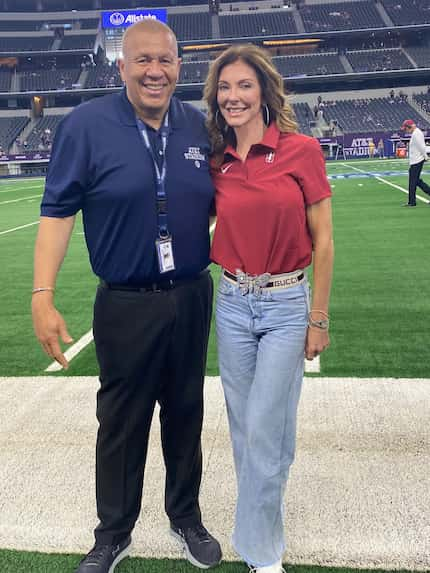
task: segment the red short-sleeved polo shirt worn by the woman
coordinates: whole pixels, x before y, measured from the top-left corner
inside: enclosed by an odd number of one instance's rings
[[[211,258],[230,272],[287,273],[312,262],[306,206],[331,196],[318,141],[272,123],[242,162],[212,165],[217,225]]]

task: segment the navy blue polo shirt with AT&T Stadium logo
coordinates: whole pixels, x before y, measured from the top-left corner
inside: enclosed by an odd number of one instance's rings
[[[162,275],[155,248],[155,170],[125,90],[84,103],[62,120],[41,215],[69,217],[82,210],[97,276],[112,283],[139,284],[189,278],[207,267],[214,189],[204,119],[199,110],[172,98],[166,190],[176,269]]]

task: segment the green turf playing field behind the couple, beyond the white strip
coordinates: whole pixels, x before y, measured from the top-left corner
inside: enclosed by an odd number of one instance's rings
[[[430,205],[419,191],[424,200],[416,209],[401,208],[407,200],[407,168],[404,160],[328,163],[329,174],[348,177],[331,180],[336,260],[331,346],[321,357],[323,376],[429,377]],[[361,171],[379,176],[365,177]],[[424,177],[430,177],[428,172]],[[0,182],[0,376],[40,376],[50,364],[34,338],[30,317],[42,192],[40,179]],[[217,282],[219,269],[212,272]],[[96,283],[78,218],[56,293],[75,341],[91,328]],[[207,373],[218,374],[214,328]],[[97,374],[92,344],[73,359],[66,374]]]

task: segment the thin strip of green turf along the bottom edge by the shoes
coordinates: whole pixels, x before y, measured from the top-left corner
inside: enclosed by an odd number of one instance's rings
[[[78,555],[59,555],[0,550],[2,573],[73,573],[80,561]],[[383,569],[345,569],[284,564],[288,573],[394,573]],[[197,569],[184,560],[128,558],[115,569],[115,573],[196,573]],[[244,563],[221,563],[216,573],[248,573]],[[398,570],[396,573],[406,573]]]

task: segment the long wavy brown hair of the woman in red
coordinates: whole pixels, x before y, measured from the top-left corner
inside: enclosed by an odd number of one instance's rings
[[[268,106],[270,121],[275,120],[281,132],[297,131],[296,117],[287,101],[282,77],[270,55],[252,44],[231,46],[211,64],[203,91],[203,98],[208,105],[206,125],[215,157],[222,155],[227,144],[235,145],[236,142],[234,131],[227,126],[219,111],[217,92],[222,69],[237,61],[245,62],[255,71],[261,88],[261,100],[263,105]]]

